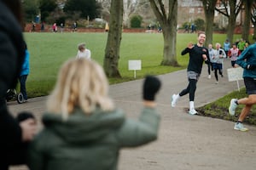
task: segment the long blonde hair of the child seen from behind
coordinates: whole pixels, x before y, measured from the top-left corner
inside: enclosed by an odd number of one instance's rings
[[[103,111],[112,111],[113,101],[108,97],[108,88],[108,79],[101,65],[89,59],[69,59],[59,71],[47,109],[61,113],[64,119],[75,107],[88,115],[96,106]]]

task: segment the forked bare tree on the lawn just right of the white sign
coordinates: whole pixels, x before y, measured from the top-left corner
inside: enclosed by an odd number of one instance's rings
[[[161,65],[177,66],[177,0],[149,0],[154,14],[159,20],[164,37],[164,56]]]

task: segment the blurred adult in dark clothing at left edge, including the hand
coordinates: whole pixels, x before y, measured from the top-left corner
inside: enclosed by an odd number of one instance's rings
[[[25,156],[21,145],[32,139],[36,128],[30,119],[17,122],[6,105],[5,94],[17,84],[25,50],[20,1],[0,0],[0,10],[0,169],[8,170],[9,165],[24,163],[14,156]]]

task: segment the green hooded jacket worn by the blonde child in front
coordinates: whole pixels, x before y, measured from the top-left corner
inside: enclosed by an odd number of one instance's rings
[[[46,113],[44,129],[31,144],[30,170],[115,170],[119,150],[157,138],[160,115],[144,108],[138,121],[123,111],[96,109],[90,116],[76,110],[63,122],[60,114]]]

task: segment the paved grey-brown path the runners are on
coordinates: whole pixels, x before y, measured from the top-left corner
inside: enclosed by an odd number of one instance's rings
[[[224,68],[230,66],[228,59]],[[132,74],[132,72],[131,72]],[[189,107],[189,97],[181,98],[177,107],[170,106],[170,97],[187,86],[186,71],[176,71],[159,76],[163,82],[157,97],[161,113],[159,139],[135,149],[120,151],[120,170],[255,170],[256,127],[247,126],[246,133],[233,130],[234,122],[204,116],[190,116],[183,108]],[[136,118],[141,109],[142,80],[112,85],[110,94],[127,116]],[[195,94],[195,106],[206,105],[231,91],[236,82],[228,82],[227,74],[214,83],[207,79],[207,67],[203,68]],[[243,82],[240,81],[240,85]],[[33,111],[40,119],[46,97],[29,99],[24,105],[10,103],[14,113]],[[12,167],[26,170],[26,167]]]

